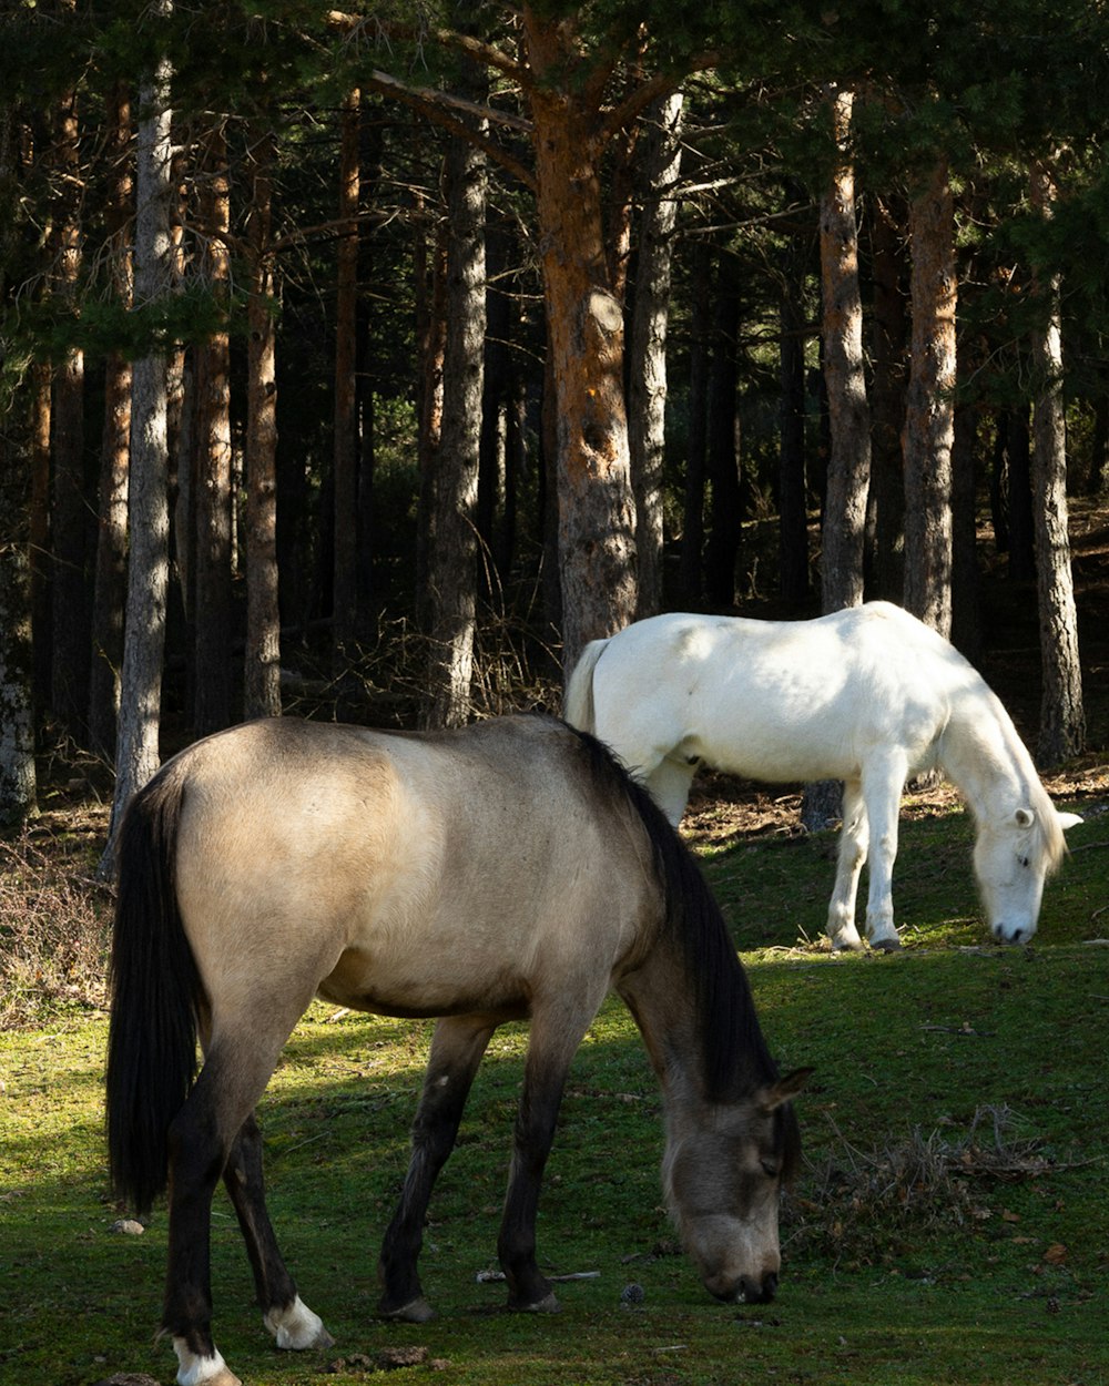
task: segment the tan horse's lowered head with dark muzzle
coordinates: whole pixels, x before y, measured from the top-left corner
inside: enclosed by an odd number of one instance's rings
[[[671,1124],[667,1202],[701,1283],[719,1300],[764,1304],[775,1296],[779,1192],[800,1157],[790,1098],[811,1071]]]

